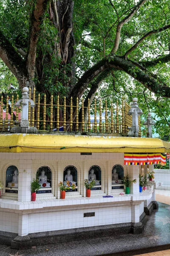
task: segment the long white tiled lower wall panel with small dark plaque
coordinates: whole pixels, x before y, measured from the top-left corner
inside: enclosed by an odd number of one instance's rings
[[[83,217],[85,212],[95,212],[94,217]],[[29,214],[29,233],[63,230],[79,227],[131,222],[131,206],[74,209],[57,212]]]

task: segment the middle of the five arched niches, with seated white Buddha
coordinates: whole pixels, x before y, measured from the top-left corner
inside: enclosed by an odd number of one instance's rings
[[[77,191],[77,169],[75,166],[67,166],[64,169],[63,172],[63,183],[66,185],[66,183],[69,181],[69,185],[75,184],[76,189],[68,189],[66,192],[74,192]],[[66,185],[67,186],[67,185]]]

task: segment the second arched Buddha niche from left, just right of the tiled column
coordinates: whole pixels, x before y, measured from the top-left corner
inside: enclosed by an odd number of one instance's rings
[[[48,166],[41,166],[37,170],[37,177],[41,188],[37,191],[37,194],[51,193],[51,169]]]

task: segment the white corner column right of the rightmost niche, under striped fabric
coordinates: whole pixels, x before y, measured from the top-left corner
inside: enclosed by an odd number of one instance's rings
[[[139,194],[139,166],[127,166],[127,171],[131,180],[136,179],[136,183],[130,185],[130,194]]]

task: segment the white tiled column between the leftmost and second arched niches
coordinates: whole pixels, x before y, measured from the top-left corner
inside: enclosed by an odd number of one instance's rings
[[[20,159],[19,163],[18,201],[31,201],[31,153],[23,153],[21,158],[25,159]]]

